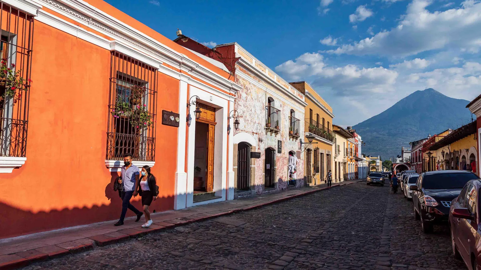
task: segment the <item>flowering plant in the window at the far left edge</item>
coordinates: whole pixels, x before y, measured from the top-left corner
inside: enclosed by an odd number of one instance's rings
[[[25,79],[20,76],[21,70],[13,71],[15,64],[8,66],[7,59],[3,58],[0,61],[0,85],[5,86],[5,92],[0,98],[2,101],[5,98],[13,98],[16,103],[18,99],[22,98],[22,90],[26,91]],[[28,83],[32,80],[28,79]]]

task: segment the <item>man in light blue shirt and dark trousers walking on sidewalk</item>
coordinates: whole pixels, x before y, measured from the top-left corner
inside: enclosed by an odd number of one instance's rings
[[[142,212],[137,210],[133,205],[130,204],[130,198],[132,196],[137,196],[137,190],[139,189],[139,167],[132,164],[132,154],[124,155],[124,166],[120,172],[122,180],[118,180],[119,184],[124,183],[124,190],[122,191],[122,213],[120,214],[120,219],[115,223],[115,226],[124,225],[125,214],[127,213],[127,208],[132,210],[137,215],[136,222],[140,220]]]

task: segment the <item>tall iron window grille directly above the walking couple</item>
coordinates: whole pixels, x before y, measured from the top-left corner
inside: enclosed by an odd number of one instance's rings
[[[155,160],[157,69],[111,53],[107,160]]]

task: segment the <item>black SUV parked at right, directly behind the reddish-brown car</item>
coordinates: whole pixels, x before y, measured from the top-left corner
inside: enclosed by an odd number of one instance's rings
[[[433,224],[448,221],[449,208],[461,189],[469,180],[478,176],[468,171],[433,171],[423,172],[413,191],[414,217],[421,220],[424,233],[431,233]]]

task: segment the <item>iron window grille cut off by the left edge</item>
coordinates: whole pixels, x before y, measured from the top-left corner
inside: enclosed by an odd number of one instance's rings
[[[25,157],[33,16],[0,2],[0,156]]]

